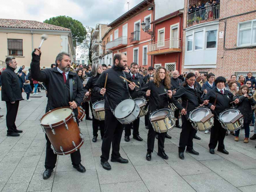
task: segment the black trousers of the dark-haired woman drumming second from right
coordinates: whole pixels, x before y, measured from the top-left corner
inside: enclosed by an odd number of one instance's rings
[[[186,119],[185,115],[181,116],[181,120],[182,130],[180,132],[179,152],[184,152],[186,146],[188,150],[193,149],[193,137],[197,131],[192,127],[191,122]]]

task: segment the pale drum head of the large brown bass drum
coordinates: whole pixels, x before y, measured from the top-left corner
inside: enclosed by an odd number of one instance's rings
[[[51,113],[44,116],[41,120],[41,124],[43,125],[51,125],[66,119],[72,112],[71,108],[61,108],[52,111]]]

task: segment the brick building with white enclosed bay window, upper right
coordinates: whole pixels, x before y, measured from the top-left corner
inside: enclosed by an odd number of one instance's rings
[[[220,0],[220,4],[188,13],[188,5],[197,2],[184,2],[182,71],[197,69],[226,78],[255,73],[255,1]]]

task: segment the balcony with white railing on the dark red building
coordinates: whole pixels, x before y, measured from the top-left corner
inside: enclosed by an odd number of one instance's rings
[[[181,52],[180,39],[171,38],[148,44],[148,55],[160,55],[173,52]]]

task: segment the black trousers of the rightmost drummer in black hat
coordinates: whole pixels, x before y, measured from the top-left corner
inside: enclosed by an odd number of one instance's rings
[[[226,136],[227,130],[221,127],[220,122],[218,119],[214,116],[214,124],[211,128],[211,136],[210,136],[210,143],[209,143],[209,148],[210,149],[215,149],[218,144],[218,149],[222,150],[225,148],[224,145],[224,139]]]

